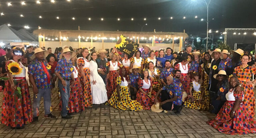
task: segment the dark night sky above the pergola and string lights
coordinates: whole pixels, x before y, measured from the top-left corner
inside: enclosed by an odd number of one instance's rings
[[[0,16],[0,24],[10,23],[14,29],[29,25],[30,32],[38,26],[43,29],[75,30],[80,26],[81,30],[141,31],[138,24],[145,23],[148,25],[143,31],[149,32],[154,29],[162,32],[183,32],[185,29],[189,35],[206,32],[206,22],[201,21],[207,15],[203,0],[55,0],[55,3],[42,0],[41,4],[30,0],[26,1],[26,5],[18,1],[7,6],[7,2],[14,1],[18,0],[0,0],[0,12],[5,14]],[[256,0],[212,0],[209,19],[214,20],[210,21],[209,29],[219,30],[220,33],[225,28],[256,28],[255,5]],[[20,14],[24,17],[21,18]],[[198,18],[195,18],[196,15]],[[187,16],[186,19],[183,16]]]

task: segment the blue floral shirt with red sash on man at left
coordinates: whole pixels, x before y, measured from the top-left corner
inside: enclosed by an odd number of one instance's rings
[[[50,69],[46,68],[47,65],[47,60],[40,62],[36,58],[28,65],[28,73],[34,77],[38,89],[47,89],[51,87]]]

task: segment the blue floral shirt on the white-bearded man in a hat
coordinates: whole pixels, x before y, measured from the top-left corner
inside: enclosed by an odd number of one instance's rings
[[[71,73],[74,72],[71,60],[67,61],[65,58],[60,59],[55,68],[55,72],[59,73],[64,80],[70,80]]]

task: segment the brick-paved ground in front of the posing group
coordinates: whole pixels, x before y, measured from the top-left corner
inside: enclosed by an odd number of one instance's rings
[[[32,89],[30,89],[33,97]],[[3,93],[0,93],[2,106]],[[25,125],[25,129],[10,129],[0,125],[0,137],[65,137],[65,138],[208,138],[208,137],[256,137],[256,134],[224,135],[205,122],[215,117],[209,112],[183,108],[181,114],[173,112],[154,113],[150,110],[139,112],[119,111],[107,105],[93,105],[85,111],[76,113],[73,119],[61,119],[58,110],[59,99],[53,92],[53,114],[57,119],[45,119],[43,100],[40,105],[40,117],[36,123]],[[1,109],[0,109],[1,110]]]

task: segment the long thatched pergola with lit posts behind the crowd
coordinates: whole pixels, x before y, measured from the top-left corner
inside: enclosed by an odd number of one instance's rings
[[[121,34],[126,37],[130,37],[130,39],[138,39],[137,43],[139,43],[140,38],[147,38],[149,40],[152,39],[152,46],[154,46],[156,38],[164,38],[164,39],[179,39],[180,45],[179,50],[182,49],[182,42],[185,41],[185,38],[188,37],[188,34],[184,32],[129,32],[129,31],[89,31],[89,30],[49,30],[49,29],[38,29],[34,30],[33,33],[38,35],[39,46],[45,46],[45,37],[56,37],[59,38],[59,45],[61,46],[62,39],[73,37],[78,38],[79,48],[81,47],[81,37],[87,37],[91,39],[91,46],[93,46],[93,38],[101,38],[102,40],[102,48],[104,47],[104,39],[106,38],[118,38]],[[42,40],[43,39],[43,40]],[[174,48],[174,41],[172,41],[172,47]]]

